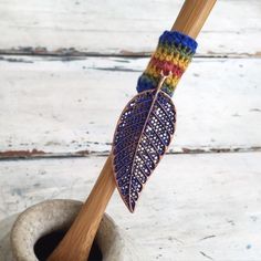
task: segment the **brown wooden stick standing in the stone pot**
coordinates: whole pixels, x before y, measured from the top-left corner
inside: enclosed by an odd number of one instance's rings
[[[186,0],[171,30],[196,38],[215,2],[216,0]],[[48,261],[86,261],[115,187],[109,155],[86,202]]]

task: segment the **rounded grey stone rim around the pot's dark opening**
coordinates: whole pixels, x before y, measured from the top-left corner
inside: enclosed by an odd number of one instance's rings
[[[69,228],[81,206],[82,202],[77,200],[54,199],[36,203],[19,215],[11,230],[13,259],[38,261],[33,251],[38,239],[54,230]],[[133,243],[106,213],[100,225],[96,242],[104,261],[139,260]],[[127,248],[128,244],[132,247]]]

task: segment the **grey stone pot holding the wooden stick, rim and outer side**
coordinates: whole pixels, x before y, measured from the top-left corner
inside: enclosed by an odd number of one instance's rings
[[[61,236],[61,231],[65,231],[70,227],[81,206],[82,202],[75,200],[48,200],[28,208],[19,216],[12,216],[2,221],[0,223],[0,260],[39,260],[38,257],[43,250],[44,238],[46,239],[45,242],[50,242],[50,237],[54,239],[58,234]],[[95,242],[102,252],[103,261],[145,260],[137,255],[138,251],[134,242],[107,215],[104,215],[102,219]],[[34,253],[34,248],[38,257]]]

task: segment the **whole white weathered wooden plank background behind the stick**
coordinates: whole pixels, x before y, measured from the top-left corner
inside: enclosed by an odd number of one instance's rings
[[[0,0],[0,220],[86,198],[181,4]],[[134,216],[116,194],[107,211],[148,261],[260,261],[261,1],[219,0],[198,42],[174,96],[170,155]]]

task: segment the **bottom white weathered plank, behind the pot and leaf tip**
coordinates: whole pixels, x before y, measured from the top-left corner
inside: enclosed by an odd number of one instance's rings
[[[117,194],[107,212],[143,246],[148,261],[259,261],[260,158],[261,153],[166,156],[134,215]],[[84,199],[104,161],[2,161],[0,219],[44,199]]]

